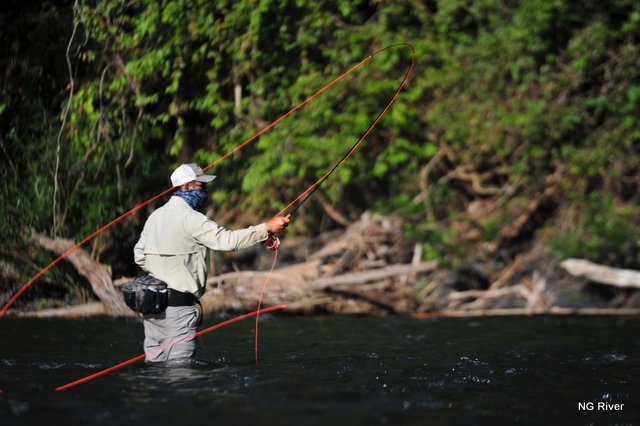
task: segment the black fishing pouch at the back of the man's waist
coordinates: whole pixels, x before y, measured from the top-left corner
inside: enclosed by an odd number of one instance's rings
[[[122,286],[128,307],[141,314],[164,312],[169,302],[167,283],[151,275],[143,275]]]

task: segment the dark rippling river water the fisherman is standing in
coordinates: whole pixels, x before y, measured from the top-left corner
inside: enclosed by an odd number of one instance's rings
[[[265,315],[259,366],[248,319],[203,336],[206,366],[54,392],[139,355],[142,325],[2,319],[0,424],[639,424],[639,335],[633,317]]]

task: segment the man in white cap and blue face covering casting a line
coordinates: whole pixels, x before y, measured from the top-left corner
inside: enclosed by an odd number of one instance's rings
[[[134,248],[135,262],[153,277],[167,283],[169,302],[160,314],[143,315],[146,361],[183,364],[195,354],[199,313],[195,307],[207,281],[207,248],[241,250],[284,230],[289,217],[229,231],[201,213],[206,185],[216,176],[206,175],[196,164],[183,164],[171,174],[178,188],[169,201],[154,211]],[[185,339],[183,342],[172,343]]]

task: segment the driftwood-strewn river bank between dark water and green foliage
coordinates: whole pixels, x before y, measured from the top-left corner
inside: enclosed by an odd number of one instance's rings
[[[396,217],[364,214],[342,231],[313,239],[284,238],[273,273],[268,272],[273,254],[261,246],[213,259],[201,298],[204,312],[254,310],[266,284],[263,305],[285,303],[286,312],[295,315],[640,314],[635,277],[622,288],[575,271],[572,275],[566,262],[554,259],[542,244],[501,267],[495,261],[470,260],[457,266],[425,261],[421,244],[401,238],[402,225]],[[57,254],[73,244],[42,235],[32,240]],[[38,317],[135,315],[118,289],[132,277],[113,279],[108,265],[82,250],[68,260],[97,300],[9,312]]]

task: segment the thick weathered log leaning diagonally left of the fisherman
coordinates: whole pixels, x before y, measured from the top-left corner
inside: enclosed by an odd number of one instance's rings
[[[55,254],[62,254],[75,246],[71,240],[63,238],[51,239],[44,235],[33,233],[31,241]],[[113,285],[111,269],[91,258],[89,253],[78,249],[66,257],[66,260],[76,268],[78,273],[85,277],[94,294],[104,305],[104,313],[111,316],[132,316],[133,312],[127,307],[122,296]],[[67,309],[67,308],[61,308]]]

